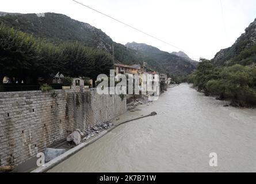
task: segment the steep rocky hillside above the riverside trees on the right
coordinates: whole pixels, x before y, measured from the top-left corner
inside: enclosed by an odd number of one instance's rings
[[[235,43],[226,49],[221,49],[212,59],[217,66],[256,63],[256,19],[252,22]]]

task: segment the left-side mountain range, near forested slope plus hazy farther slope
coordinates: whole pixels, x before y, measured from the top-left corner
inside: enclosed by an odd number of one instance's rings
[[[104,49],[112,53],[114,44],[115,62],[137,64],[147,62],[154,70],[167,74],[186,75],[194,70],[194,65],[184,58],[168,52],[141,52],[115,43],[101,29],[87,23],[71,19],[63,14],[19,14],[0,12],[0,24],[22,32],[33,34],[36,39],[60,45],[63,42],[78,42],[87,47]]]

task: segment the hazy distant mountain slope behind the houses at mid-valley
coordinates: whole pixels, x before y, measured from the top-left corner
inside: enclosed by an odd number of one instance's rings
[[[160,69],[162,72],[186,75],[196,69],[196,66],[190,63],[189,59],[161,51],[151,45],[132,42],[127,43],[125,46],[137,50],[137,55],[142,53],[147,56],[147,63],[157,63],[162,68],[162,70]]]

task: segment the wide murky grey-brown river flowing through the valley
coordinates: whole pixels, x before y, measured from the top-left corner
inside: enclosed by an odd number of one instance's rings
[[[137,109],[156,116],[120,125],[49,172],[256,172],[256,110],[225,104],[185,83],[170,88]]]

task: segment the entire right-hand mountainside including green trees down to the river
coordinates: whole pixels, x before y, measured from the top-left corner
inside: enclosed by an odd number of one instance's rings
[[[234,106],[256,106],[256,19],[229,48],[209,61],[202,59],[188,76],[198,91]]]

